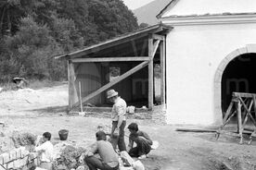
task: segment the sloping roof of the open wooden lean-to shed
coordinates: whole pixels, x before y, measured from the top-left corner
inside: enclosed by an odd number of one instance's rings
[[[69,59],[69,58],[76,58],[76,57],[79,57],[82,55],[88,55],[90,53],[95,53],[100,50],[113,47],[113,46],[121,44],[123,42],[130,42],[131,40],[139,39],[143,36],[148,36],[148,34],[151,34],[151,33],[166,34],[168,31],[170,31],[172,29],[173,29],[173,27],[170,27],[170,26],[160,23],[160,24],[149,26],[147,28],[143,28],[140,30],[135,30],[130,33],[122,34],[116,38],[110,39],[105,42],[99,42],[94,45],[87,46],[87,47],[83,48],[82,50],[71,52],[69,54],[55,56],[55,59],[59,59],[59,58],[66,58],[66,59],[68,58]]]

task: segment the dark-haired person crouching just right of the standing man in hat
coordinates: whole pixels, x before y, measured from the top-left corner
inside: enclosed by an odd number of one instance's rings
[[[130,133],[128,153],[131,157],[137,157],[138,159],[144,159],[147,157],[147,153],[151,150],[153,144],[146,132],[138,129],[136,123],[131,123],[128,126]],[[134,147],[134,142],[136,147]]]

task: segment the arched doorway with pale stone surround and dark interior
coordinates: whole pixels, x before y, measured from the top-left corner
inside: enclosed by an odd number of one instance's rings
[[[256,44],[239,48],[227,55],[214,79],[214,112],[224,114],[232,92],[256,93]]]

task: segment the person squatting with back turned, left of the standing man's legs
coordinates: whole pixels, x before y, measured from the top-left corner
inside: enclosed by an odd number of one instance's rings
[[[100,156],[96,158],[95,154]],[[85,161],[90,170],[118,170],[119,161],[118,155],[114,151],[113,146],[106,140],[104,131],[96,132],[96,143],[91,145],[86,152],[83,152],[80,157],[80,162]]]

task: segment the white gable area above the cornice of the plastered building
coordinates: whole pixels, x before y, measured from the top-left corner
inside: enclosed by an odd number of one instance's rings
[[[255,0],[170,0],[157,18],[186,18],[256,13]]]

